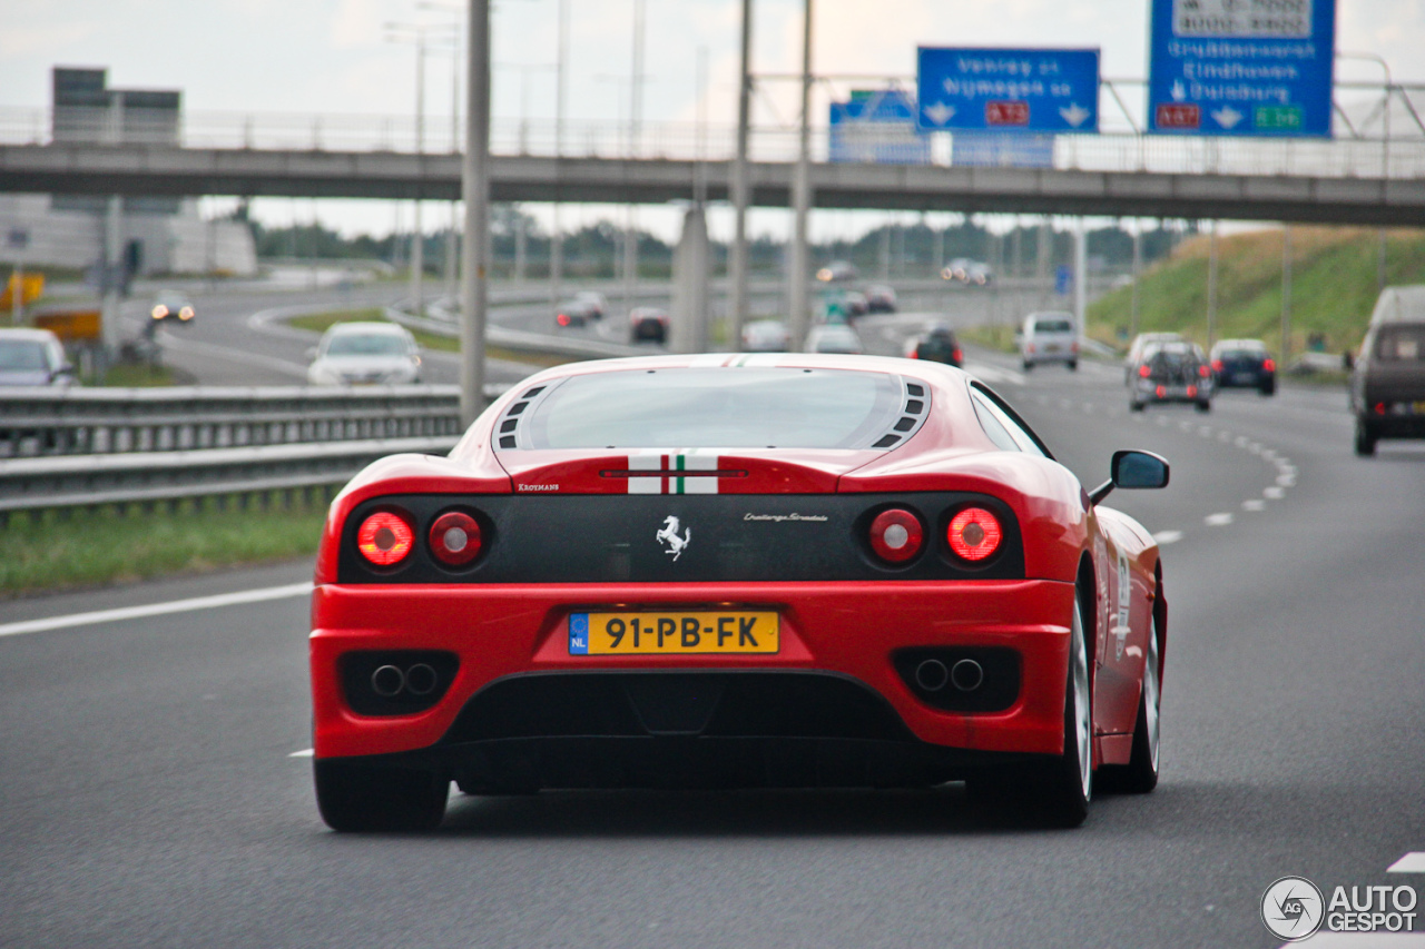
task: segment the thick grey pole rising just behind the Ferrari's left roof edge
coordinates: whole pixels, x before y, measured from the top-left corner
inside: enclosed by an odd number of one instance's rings
[[[466,64],[465,242],[460,309],[460,420],[484,409],[484,321],[490,248],[490,0],[470,0]]]

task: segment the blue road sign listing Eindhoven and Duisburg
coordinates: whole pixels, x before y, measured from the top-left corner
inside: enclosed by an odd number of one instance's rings
[[[1335,0],[1153,0],[1149,131],[1331,135]]]

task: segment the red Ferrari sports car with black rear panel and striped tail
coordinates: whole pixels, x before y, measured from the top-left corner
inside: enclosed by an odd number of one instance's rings
[[[1159,769],[1159,550],[939,363],[532,376],[331,507],[311,675],[338,831],[543,788],[931,787],[1054,825]],[[996,807],[999,807],[996,804]]]

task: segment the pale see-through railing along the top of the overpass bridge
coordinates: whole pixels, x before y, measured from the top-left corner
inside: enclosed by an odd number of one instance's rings
[[[1244,174],[1312,175],[1332,178],[1425,177],[1425,128],[1415,97],[1425,105],[1425,88],[1396,87],[1392,114],[1395,134],[1381,135],[1379,115],[1369,121],[1348,123],[1342,110],[1338,135],[1332,140],[1291,138],[1197,138],[1141,135],[1113,130],[1097,135],[1057,135],[1052,167],[1070,171],[1150,171],[1168,174]],[[1368,115],[1369,118],[1369,115]],[[98,123],[98,120],[95,120]],[[1121,121],[1117,125],[1123,125]],[[66,125],[61,140],[104,141],[107,125],[95,124],[93,134]],[[455,134],[452,135],[452,131]],[[858,144],[869,144],[859,130]],[[886,133],[891,141],[903,141],[903,133]],[[447,121],[430,117],[425,125],[422,151],[430,155],[455,154],[463,131]],[[51,121],[47,108],[0,107],[0,142],[50,144]],[[735,134],[728,125],[700,127],[695,123],[644,123],[637,137],[626,125],[608,121],[496,120],[492,150],[499,155],[570,157],[570,158],[665,158],[722,162],[734,154]],[[359,114],[279,114],[279,113],[185,113],[177,144],[187,148],[289,150],[289,151],[416,151],[416,127],[410,115]],[[828,131],[812,134],[812,157],[828,157]],[[953,137],[932,137],[929,160],[949,165]],[[755,161],[794,161],[798,130],[791,125],[760,125],[751,138]]]

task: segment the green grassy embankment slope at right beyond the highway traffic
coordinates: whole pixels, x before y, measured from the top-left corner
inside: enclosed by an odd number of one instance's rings
[[[1291,231],[1291,352],[1312,333],[1328,352],[1354,349],[1377,298],[1378,232],[1368,228]],[[1177,331],[1207,342],[1208,238],[1200,235],[1143,274],[1139,332]],[[1214,336],[1245,336],[1281,346],[1282,232],[1254,231],[1217,241],[1217,326]],[[1387,282],[1425,284],[1425,232],[1389,231]],[[1089,308],[1090,336],[1124,348],[1133,289],[1123,286]]]

